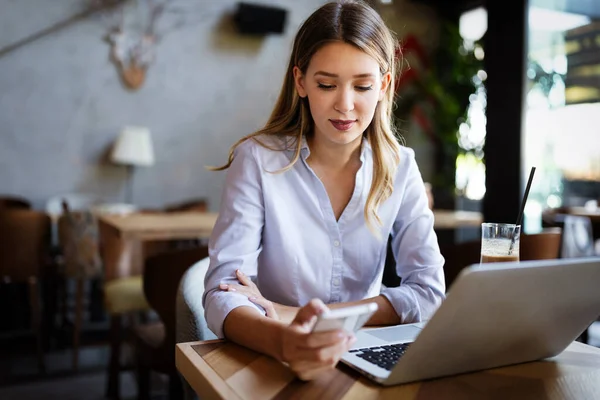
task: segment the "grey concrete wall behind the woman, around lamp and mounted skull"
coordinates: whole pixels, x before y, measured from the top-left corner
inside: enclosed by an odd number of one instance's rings
[[[0,49],[86,3],[0,0]],[[156,164],[136,169],[133,202],[160,207],[206,197],[218,210],[224,173],[204,166],[223,163],[233,142],[264,124],[293,36],[324,1],[261,0],[289,10],[285,34],[264,39],[235,33],[227,17],[234,0],[170,3],[156,60],[135,92],[122,86],[103,39],[114,15],[93,15],[0,57],[0,194],[38,208],[72,192],[124,201],[126,170],[106,155],[120,129],[134,124],[151,130]],[[420,20],[413,26],[423,29]]]

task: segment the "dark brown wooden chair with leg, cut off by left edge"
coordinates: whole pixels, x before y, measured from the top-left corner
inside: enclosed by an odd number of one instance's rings
[[[33,210],[0,212],[0,279],[29,285],[31,326],[37,340],[38,365],[45,372],[39,280],[48,264],[50,217]]]

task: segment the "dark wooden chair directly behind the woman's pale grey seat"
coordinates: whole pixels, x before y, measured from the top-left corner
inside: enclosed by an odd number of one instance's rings
[[[171,399],[182,396],[181,380],[175,367],[177,290],[185,272],[205,257],[208,257],[206,246],[158,254],[145,263],[144,294],[160,322],[134,328],[138,399],[150,398],[150,371],[169,376]]]

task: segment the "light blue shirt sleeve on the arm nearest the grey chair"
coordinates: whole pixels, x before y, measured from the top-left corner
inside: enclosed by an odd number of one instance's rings
[[[209,241],[210,265],[204,279],[204,315],[211,331],[224,337],[223,322],[231,310],[247,306],[264,310],[239,293],[224,292],[220,283],[239,284],[235,271],[240,269],[255,280],[264,225],[261,170],[252,139],[236,149],[227,169],[219,217]]]

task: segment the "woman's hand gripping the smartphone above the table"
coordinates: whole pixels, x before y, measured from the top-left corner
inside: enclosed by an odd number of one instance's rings
[[[318,299],[302,307],[281,335],[281,359],[302,380],[315,379],[336,364],[356,341],[353,334],[343,330],[311,332],[317,316],[326,311]]]

